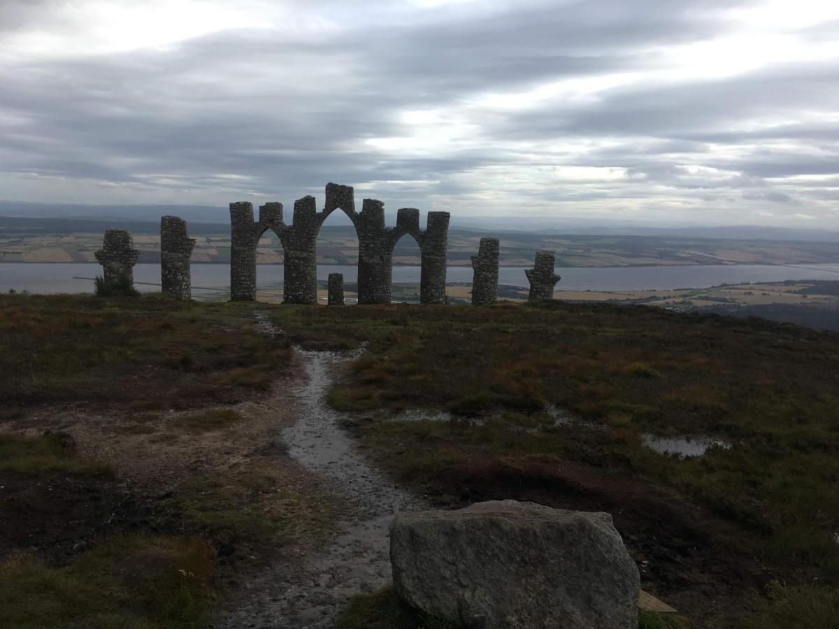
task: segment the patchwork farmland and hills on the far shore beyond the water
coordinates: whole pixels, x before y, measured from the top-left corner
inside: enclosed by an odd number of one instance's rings
[[[95,262],[93,253],[102,245],[102,229],[81,229],[71,221],[44,219],[43,226],[11,226],[0,217],[0,260],[18,263]],[[40,224],[39,224],[40,225]],[[131,228],[140,263],[159,262],[159,231],[153,223]],[[99,229],[101,228],[101,229]],[[195,237],[194,263],[230,262],[230,233],[224,225],[190,227]],[[469,266],[482,236],[501,240],[500,262],[507,267],[526,267],[533,263],[537,249],[556,252],[558,267],[637,267],[697,264],[819,264],[839,262],[837,242],[791,242],[722,240],[714,238],[644,236],[557,236],[539,233],[481,233],[453,229],[449,233],[449,263]],[[280,264],[283,249],[279,238],[268,231],[260,240],[258,263]],[[355,264],[358,242],[351,226],[324,226],[318,240],[318,263]],[[403,237],[393,251],[393,263],[420,263],[420,248],[410,237]]]

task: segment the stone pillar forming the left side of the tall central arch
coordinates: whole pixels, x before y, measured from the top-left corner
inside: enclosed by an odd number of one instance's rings
[[[314,196],[294,201],[294,222],[286,231],[284,304],[317,304],[318,223]]]

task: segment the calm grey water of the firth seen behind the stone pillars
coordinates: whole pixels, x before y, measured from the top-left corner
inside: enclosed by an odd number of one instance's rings
[[[318,278],[326,280],[329,273],[343,273],[344,281],[356,281],[354,266],[321,265]],[[785,279],[839,279],[839,264],[813,264],[807,267],[784,267],[758,264],[703,267],[615,267],[615,268],[557,268],[562,276],[560,290],[668,290],[704,289],[722,283],[779,282]],[[73,276],[93,278],[102,274],[98,264],[0,264],[0,292],[9,289],[29,290],[30,293],[90,293],[93,283]],[[260,265],[258,286],[276,286],[283,281],[282,265]],[[159,264],[138,264],[134,268],[136,282],[160,283]],[[420,267],[393,267],[393,281],[419,283]],[[472,282],[472,268],[449,267],[450,283]],[[499,283],[528,286],[524,268],[503,267]],[[230,267],[227,264],[193,264],[192,284],[195,297],[211,294],[209,289],[228,289]],[[158,291],[158,286],[138,284],[138,289]]]

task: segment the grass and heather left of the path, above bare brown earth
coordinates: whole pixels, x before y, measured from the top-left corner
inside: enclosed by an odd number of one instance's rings
[[[264,390],[289,343],[253,325],[260,304],[161,295],[0,295],[0,402],[227,402]],[[106,385],[107,382],[107,385]]]

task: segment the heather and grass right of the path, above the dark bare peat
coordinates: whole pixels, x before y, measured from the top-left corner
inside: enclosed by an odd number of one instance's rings
[[[796,591],[839,585],[839,335],[611,304],[273,312],[295,338],[367,342],[330,401],[373,412],[356,434],[417,491],[454,503],[464,486],[479,499],[520,495],[570,460],[733,524],[717,543]],[[399,420],[403,408],[462,419]],[[644,447],[644,434],[732,447],[676,458]],[[505,475],[519,481],[493,489]]]

